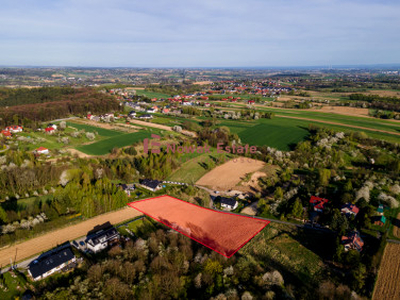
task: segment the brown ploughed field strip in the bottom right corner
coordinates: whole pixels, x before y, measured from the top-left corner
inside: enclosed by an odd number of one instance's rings
[[[373,300],[400,299],[400,245],[389,243],[383,254]]]

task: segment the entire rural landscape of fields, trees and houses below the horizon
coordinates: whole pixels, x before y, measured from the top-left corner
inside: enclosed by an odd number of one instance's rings
[[[1,299],[400,296],[398,74],[62,72],[0,88]]]

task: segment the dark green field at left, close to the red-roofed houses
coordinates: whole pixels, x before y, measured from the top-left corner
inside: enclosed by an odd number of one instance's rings
[[[149,138],[150,135],[151,131],[149,130],[133,133],[122,133],[99,142],[76,147],[76,149],[89,155],[105,155],[110,153],[110,151],[115,147],[122,148],[132,145],[136,142],[142,141],[145,138]]]

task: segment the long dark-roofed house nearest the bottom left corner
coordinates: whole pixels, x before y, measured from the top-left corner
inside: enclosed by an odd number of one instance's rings
[[[34,281],[46,278],[76,262],[70,244],[42,254],[28,265],[28,274]]]

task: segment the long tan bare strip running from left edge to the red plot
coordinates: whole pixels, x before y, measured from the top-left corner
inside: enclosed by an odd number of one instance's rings
[[[8,248],[2,248],[0,249],[0,265],[6,266],[9,264],[10,258],[14,259],[15,257],[16,249],[16,260],[18,262],[35,254],[47,251],[57,245],[65,243],[66,241],[72,241],[78,237],[84,236],[96,225],[101,225],[106,222],[117,224],[140,215],[142,214],[135,209],[125,207],[121,210],[106,213],[76,225],[71,225],[53,232],[46,233],[26,242],[12,245]]]

